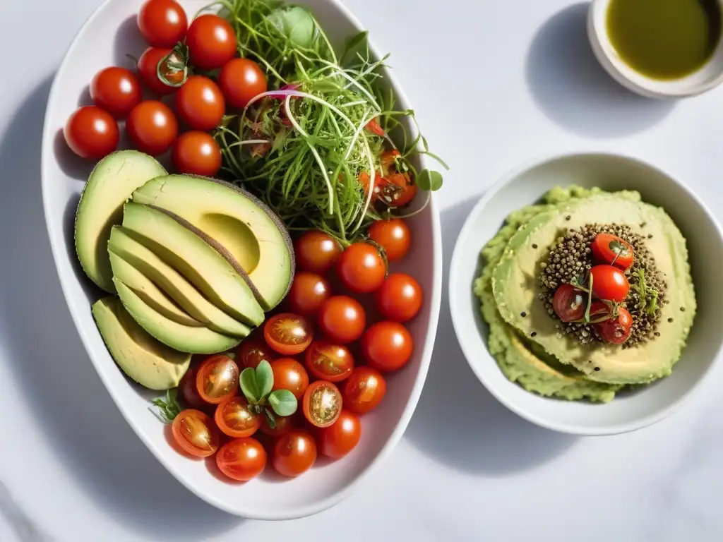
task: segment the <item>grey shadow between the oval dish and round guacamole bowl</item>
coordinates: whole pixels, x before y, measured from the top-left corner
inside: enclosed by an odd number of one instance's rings
[[[455,241],[477,199],[442,212],[440,324],[427,382],[405,438],[451,468],[505,476],[552,460],[577,439],[539,428],[510,412],[487,392],[464,358],[452,325],[447,285]]]

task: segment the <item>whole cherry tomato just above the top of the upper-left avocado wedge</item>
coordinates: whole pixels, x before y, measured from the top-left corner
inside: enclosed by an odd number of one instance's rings
[[[147,100],[139,103],[129,113],[126,129],[137,150],[158,156],[173,145],[179,133],[179,123],[165,103]]]

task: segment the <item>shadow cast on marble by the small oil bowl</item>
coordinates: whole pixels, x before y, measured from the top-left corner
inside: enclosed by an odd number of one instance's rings
[[[570,132],[595,138],[643,132],[675,101],[643,98],[604,71],[587,37],[588,7],[573,4],[539,28],[527,56],[527,85],[549,119]]]

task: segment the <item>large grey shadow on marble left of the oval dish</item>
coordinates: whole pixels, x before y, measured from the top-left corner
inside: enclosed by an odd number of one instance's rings
[[[47,446],[104,512],[151,540],[215,538],[244,520],[197,499],[140,442],[95,373],[65,304],[40,196],[50,86],[47,77],[0,137],[0,253],[6,255],[0,322],[7,369]]]

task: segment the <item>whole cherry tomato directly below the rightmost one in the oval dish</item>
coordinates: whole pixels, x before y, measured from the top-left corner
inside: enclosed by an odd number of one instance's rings
[[[378,322],[361,337],[361,354],[379,371],[397,371],[406,365],[414,341],[406,327],[397,322]]]

